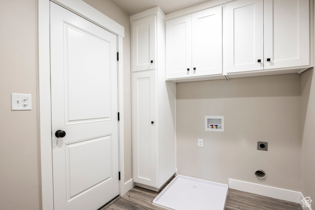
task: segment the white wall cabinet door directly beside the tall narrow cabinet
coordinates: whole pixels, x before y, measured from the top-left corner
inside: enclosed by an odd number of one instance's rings
[[[166,22],[166,78],[192,76],[192,16]]]

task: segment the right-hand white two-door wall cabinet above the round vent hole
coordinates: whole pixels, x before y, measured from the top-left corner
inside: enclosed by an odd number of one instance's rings
[[[309,14],[309,0],[227,3],[227,74],[310,67]]]

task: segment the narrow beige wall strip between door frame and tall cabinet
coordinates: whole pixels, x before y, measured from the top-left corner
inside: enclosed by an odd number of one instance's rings
[[[130,16],[108,0],[83,0],[125,28],[123,38],[123,102],[124,102],[124,149],[125,181],[132,179],[131,148],[131,76],[130,76]]]

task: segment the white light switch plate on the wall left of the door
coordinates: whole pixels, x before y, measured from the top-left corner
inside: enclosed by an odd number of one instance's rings
[[[32,95],[22,93],[11,93],[11,110],[32,110]]]

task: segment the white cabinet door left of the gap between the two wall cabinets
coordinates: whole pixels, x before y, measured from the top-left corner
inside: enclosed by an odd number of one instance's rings
[[[192,76],[222,74],[222,7],[192,14]]]

